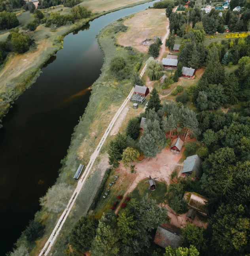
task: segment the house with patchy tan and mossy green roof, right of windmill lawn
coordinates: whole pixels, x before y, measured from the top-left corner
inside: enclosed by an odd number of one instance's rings
[[[203,197],[195,192],[185,192],[183,198],[186,199],[189,209],[194,209],[202,216],[207,216],[208,210],[206,208],[206,197]]]

